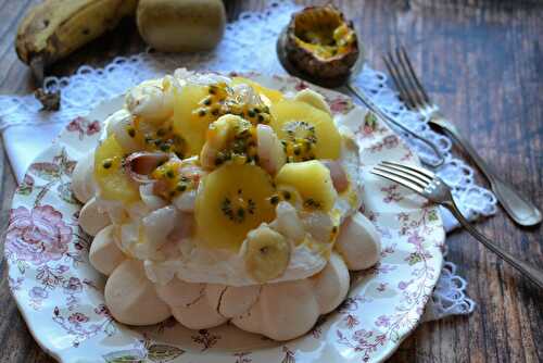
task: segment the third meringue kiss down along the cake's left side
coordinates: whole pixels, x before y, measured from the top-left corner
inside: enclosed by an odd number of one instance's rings
[[[113,226],[110,225],[100,230],[90,245],[89,251],[90,264],[106,276],[126,258],[113,239]]]

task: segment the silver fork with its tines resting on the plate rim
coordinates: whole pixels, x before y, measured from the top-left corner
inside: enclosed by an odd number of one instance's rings
[[[521,274],[527,276],[539,287],[543,288],[543,271],[538,270],[528,263],[517,259],[509,252],[506,252],[493,241],[487,238],[483,234],[477,230],[460,213],[456,206],[451,189],[443,180],[422,167],[399,164],[393,162],[383,161],[375,166],[371,171],[372,174],[395,182],[427,198],[433,203],[441,204],[446,208],[458,222],[466,228],[471,236],[479,240],[484,247],[497,254],[504,261],[512,264]]]

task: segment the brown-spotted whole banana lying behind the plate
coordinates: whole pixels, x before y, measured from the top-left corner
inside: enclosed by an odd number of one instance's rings
[[[45,0],[21,22],[15,39],[18,58],[39,82],[43,67],[114,28],[136,13],[138,0]]]

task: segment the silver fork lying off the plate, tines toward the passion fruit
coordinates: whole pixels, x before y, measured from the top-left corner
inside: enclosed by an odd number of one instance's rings
[[[383,57],[383,60],[400,91],[400,97],[406,105],[412,110],[420,112],[424,116],[427,116],[430,126],[450,135],[456,143],[469,154],[471,160],[473,160],[476,165],[489,180],[492,191],[494,191],[497,200],[502,203],[507,214],[509,214],[516,223],[522,226],[539,224],[542,221],[540,210],[522,198],[510,185],[500,179],[473,147],[471,147],[468,140],[465,139],[458,133],[458,129],[443,116],[439,107],[431,101],[418,80],[405,49],[403,47],[397,48],[395,57],[389,53],[388,57]]]

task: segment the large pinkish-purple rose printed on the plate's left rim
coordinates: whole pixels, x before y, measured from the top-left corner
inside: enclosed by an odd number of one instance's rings
[[[72,228],[62,221],[62,213],[51,205],[33,210],[18,206],[11,211],[5,250],[17,260],[41,265],[58,261],[67,251]]]

